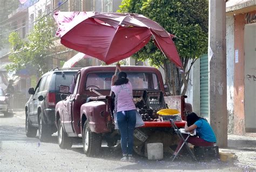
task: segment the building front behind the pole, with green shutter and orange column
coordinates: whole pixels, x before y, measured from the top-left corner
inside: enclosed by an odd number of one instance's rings
[[[256,1],[226,2],[228,133],[256,132]],[[208,117],[207,56],[193,66],[188,102],[193,111]],[[206,69],[206,70],[205,70]]]

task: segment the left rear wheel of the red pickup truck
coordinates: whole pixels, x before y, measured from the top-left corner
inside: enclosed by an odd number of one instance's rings
[[[86,120],[83,128],[84,153],[87,156],[95,156],[102,147],[102,135],[91,132],[88,121]]]

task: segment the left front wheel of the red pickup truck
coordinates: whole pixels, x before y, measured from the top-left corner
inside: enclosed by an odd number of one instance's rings
[[[58,122],[58,145],[61,149],[68,149],[72,146],[72,139],[63,130],[60,119]]]

